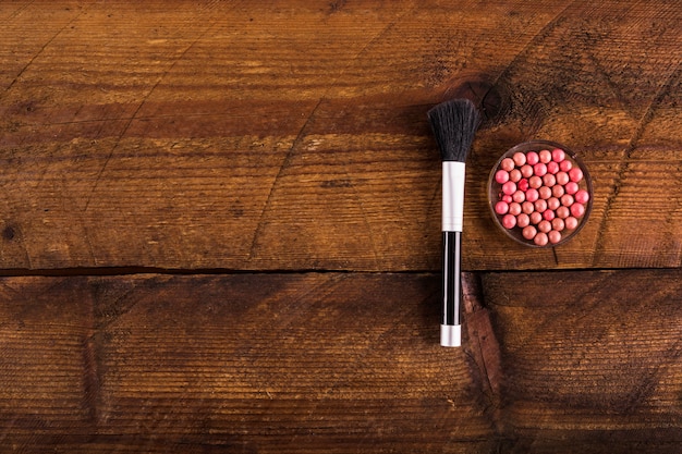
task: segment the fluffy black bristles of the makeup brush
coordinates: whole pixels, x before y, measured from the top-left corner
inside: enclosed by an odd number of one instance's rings
[[[443,161],[466,161],[478,127],[478,111],[468,99],[441,102],[428,111]]]

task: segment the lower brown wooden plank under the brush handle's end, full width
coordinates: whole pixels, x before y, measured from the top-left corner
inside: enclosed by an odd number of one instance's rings
[[[3,278],[0,447],[674,453],[681,286],[484,274],[441,348],[437,274]]]

